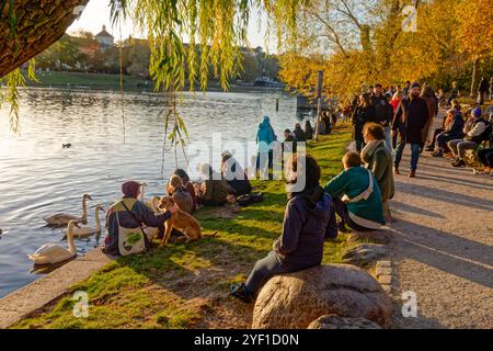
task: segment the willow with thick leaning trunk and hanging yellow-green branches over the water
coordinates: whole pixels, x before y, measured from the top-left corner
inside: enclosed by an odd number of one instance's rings
[[[96,1],[96,0],[92,0]],[[55,43],[76,20],[88,0],[0,0],[0,79],[10,84],[22,83],[16,70],[36,54]],[[248,45],[246,30],[252,11],[267,15],[267,27],[283,29],[296,37],[296,20],[301,5],[310,0],[111,0],[115,24],[131,19],[147,33],[151,49],[149,71],[157,90],[174,97],[185,87],[199,82],[207,87],[210,70],[222,88],[241,68],[239,47]],[[279,36],[278,36],[279,37]],[[188,41],[187,46],[184,42]],[[188,77],[185,77],[185,71]],[[4,78],[7,73],[16,77]],[[13,89],[13,88],[12,88]],[[8,102],[15,106],[15,94]],[[174,98],[173,98],[174,99]],[[175,116],[170,138],[185,132]],[[14,114],[15,115],[15,114]],[[167,122],[170,121],[169,116]],[[181,137],[180,137],[181,139]]]

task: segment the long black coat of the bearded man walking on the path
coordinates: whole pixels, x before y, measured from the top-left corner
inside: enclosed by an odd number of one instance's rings
[[[401,141],[423,144],[422,131],[429,118],[429,110],[422,98],[405,98],[393,116],[392,129],[399,133]]]

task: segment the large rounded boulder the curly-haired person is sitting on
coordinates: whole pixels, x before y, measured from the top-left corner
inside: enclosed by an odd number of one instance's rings
[[[387,327],[392,305],[380,284],[348,264],[326,264],[276,275],[262,288],[254,329],[306,329],[324,315],[363,317]]]

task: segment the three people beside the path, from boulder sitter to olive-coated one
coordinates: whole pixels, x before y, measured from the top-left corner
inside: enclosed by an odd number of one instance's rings
[[[295,177],[288,189],[298,177],[306,178],[306,186],[287,192],[280,237],[255,263],[246,282],[231,286],[232,296],[250,303],[272,276],[321,264],[325,239],[334,239],[339,231],[369,231],[386,224],[385,208],[394,192],[392,158],[381,125],[365,125],[364,137],[366,147],[360,154],[347,152],[342,160],[344,171],[324,188],[317,160],[306,155],[300,162],[299,155],[295,156],[290,166]]]

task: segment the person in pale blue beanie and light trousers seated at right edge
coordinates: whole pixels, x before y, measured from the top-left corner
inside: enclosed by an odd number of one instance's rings
[[[467,150],[474,150],[485,139],[485,134],[491,134],[491,129],[490,133],[488,133],[486,128],[488,124],[482,117],[481,107],[475,107],[472,110],[468,122],[466,122],[463,128],[463,134],[466,136],[463,139],[448,141],[448,147],[455,157],[455,160],[452,161],[454,167],[466,167]]]

